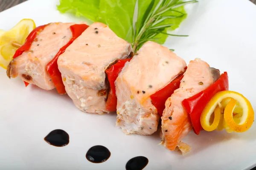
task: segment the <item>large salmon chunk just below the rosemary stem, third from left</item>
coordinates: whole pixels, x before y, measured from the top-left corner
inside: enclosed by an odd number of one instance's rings
[[[160,119],[150,95],[185,71],[186,62],[168,48],[146,42],[119,73],[116,126],[125,134],[150,135]]]

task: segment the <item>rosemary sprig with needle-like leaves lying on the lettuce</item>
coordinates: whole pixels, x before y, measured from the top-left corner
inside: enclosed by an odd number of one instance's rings
[[[144,42],[148,40],[156,40],[158,34],[167,34],[170,36],[187,37],[187,35],[175,35],[166,33],[166,29],[173,26],[173,24],[166,24],[164,21],[169,18],[183,17],[183,13],[176,11],[175,8],[179,6],[184,6],[189,3],[196,3],[197,0],[159,0],[159,2],[154,6],[155,0],[152,0],[142,19],[142,26],[136,28],[137,26],[137,14],[138,14],[138,0],[136,2],[136,7],[134,9],[133,18],[133,50],[136,52]],[[154,8],[153,8],[154,7]],[[179,16],[166,16],[167,11],[175,11],[180,13]],[[137,30],[138,29],[138,30]]]

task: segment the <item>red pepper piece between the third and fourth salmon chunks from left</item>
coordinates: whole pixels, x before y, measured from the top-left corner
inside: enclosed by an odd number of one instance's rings
[[[163,116],[163,110],[165,109],[166,100],[172,96],[173,92],[180,87],[180,81],[183,78],[183,73],[180,74],[176,79],[160,89],[156,93],[150,96],[152,104],[157,108],[157,112],[160,116]]]

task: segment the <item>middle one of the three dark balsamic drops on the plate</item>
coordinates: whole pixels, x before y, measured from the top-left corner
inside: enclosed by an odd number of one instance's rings
[[[109,159],[111,153],[107,147],[96,145],[91,147],[86,153],[86,159],[93,163],[102,163]]]

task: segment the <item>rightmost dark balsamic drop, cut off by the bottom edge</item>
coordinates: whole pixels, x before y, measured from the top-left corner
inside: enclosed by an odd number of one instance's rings
[[[148,164],[148,159],[144,156],[137,156],[130,159],[126,165],[126,170],[143,170],[145,166]]]

